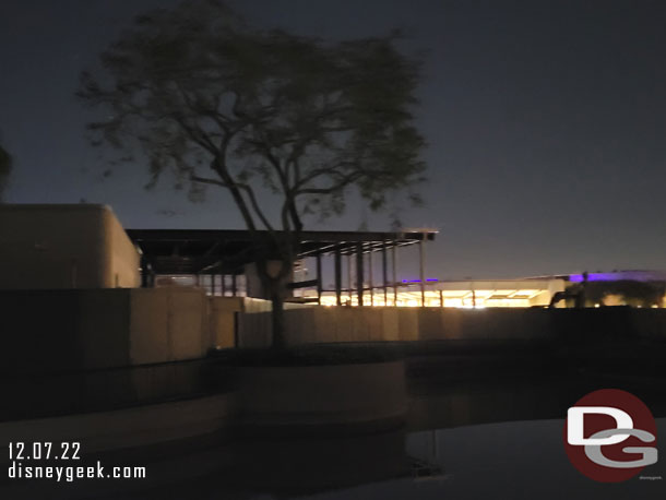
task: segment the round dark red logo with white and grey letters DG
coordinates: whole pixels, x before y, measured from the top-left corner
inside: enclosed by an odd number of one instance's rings
[[[623,481],[657,462],[656,424],[633,394],[594,391],[569,408],[564,449],[574,467],[591,479]]]

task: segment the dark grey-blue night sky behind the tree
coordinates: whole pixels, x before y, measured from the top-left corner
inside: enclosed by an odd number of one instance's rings
[[[192,204],[143,165],[103,178],[79,73],[145,10],[174,1],[2,0],[0,143],[10,203],[110,204],[130,228],[241,228],[226,192]],[[402,27],[423,53],[428,275],[666,269],[666,2],[245,0],[250,22],[325,38]],[[385,230],[352,203],[309,229]]]

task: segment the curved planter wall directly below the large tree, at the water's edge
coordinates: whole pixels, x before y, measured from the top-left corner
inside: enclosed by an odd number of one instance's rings
[[[243,426],[379,426],[407,412],[403,360],[358,365],[239,368]]]

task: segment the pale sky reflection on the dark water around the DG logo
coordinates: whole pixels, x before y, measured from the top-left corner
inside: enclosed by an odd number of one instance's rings
[[[663,499],[666,461],[621,484],[600,484],[582,476],[562,447],[563,420],[488,424],[411,432],[409,456],[439,464],[442,474],[419,480],[401,478],[332,491],[310,498],[349,499]],[[658,433],[666,418],[657,419]]]

